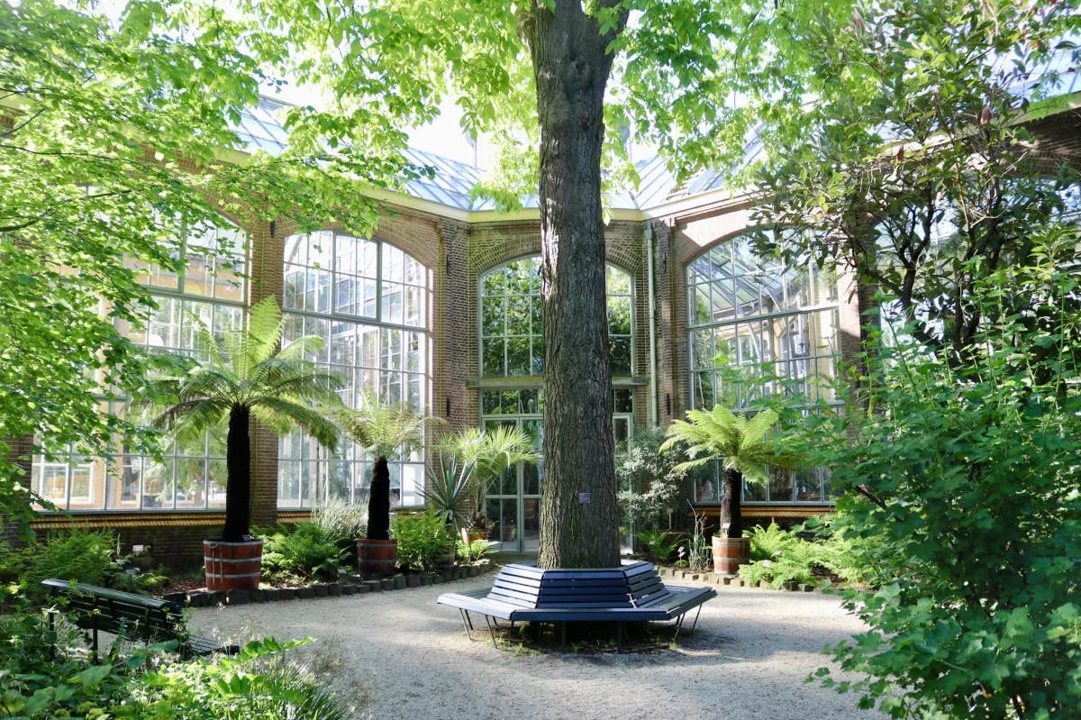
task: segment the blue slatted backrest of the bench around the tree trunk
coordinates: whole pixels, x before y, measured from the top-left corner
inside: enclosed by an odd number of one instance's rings
[[[641,608],[667,597],[656,569],[628,562],[618,569],[538,570],[510,563],[488,597],[520,608]]]

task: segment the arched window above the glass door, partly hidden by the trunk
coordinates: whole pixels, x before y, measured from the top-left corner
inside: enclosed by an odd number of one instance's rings
[[[481,277],[481,375],[512,377],[544,374],[539,269],[539,257],[523,257]],[[633,292],[630,275],[609,265],[605,268],[605,284],[612,374],[630,375],[633,371]]]

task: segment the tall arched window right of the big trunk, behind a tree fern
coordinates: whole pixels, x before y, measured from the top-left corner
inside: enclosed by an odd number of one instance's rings
[[[808,408],[836,403],[837,279],[814,264],[759,257],[747,237],[722,242],[688,267],[691,389],[695,408],[745,410],[785,396]],[[718,483],[696,485],[717,502]],[[776,470],[748,502],[827,502],[823,470]]]

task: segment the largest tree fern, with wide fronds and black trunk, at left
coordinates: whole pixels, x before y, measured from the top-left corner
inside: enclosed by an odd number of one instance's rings
[[[242,542],[251,529],[251,438],[254,415],[279,435],[299,427],[320,444],[337,443],[337,426],[321,408],[341,405],[342,381],[320,370],[305,355],[319,349],[319,337],[302,337],[281,348],[281,309],[267,297],[251,309],[248,328],[226,331],[221,342],[196,320],[198,349],[205,360],[181,376],[154,378],[147,397],[156,414],[150,424],[176,437],[203,434],[227,422],[225,529],[222,539]]]

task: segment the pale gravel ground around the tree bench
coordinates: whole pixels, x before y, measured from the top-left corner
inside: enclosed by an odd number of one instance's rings
[[[341,658],[334,688],[357,718],[522,720],[878,719],[856,697],[804,683],[822,649],[858,632],[837,598],[718,588],[694,636],[653,653],[525,654],[469,641],[441,592],[490,585],[491,575],[348,598],[192,611],[191,629],[233,641],[316,638],[303,651]],[[301,652],[301,651],[298,651]]]

